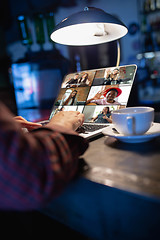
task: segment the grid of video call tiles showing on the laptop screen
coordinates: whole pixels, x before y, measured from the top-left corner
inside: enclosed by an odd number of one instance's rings
[[[50,118],[58,111],[79,111],[84,113],[85,122],[90,122],[106,106],[111,112],[126,107],[136,69],[137,66],[133,64],[66,75]],[[111,92],[109,90],[113,88],[116,89],[116,92],[117,90],[120,92],[119,95],[114,98],[112,103],[107,100],[103,101],[102,99],[106,99]],[[98,94],[98,101],[90,101],[95,98],[96,94]]]

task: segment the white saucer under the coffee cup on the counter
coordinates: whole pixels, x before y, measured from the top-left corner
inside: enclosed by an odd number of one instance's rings
[[[106,127],[102,130],[104,135],[114,137],[119,139],[122,142],[126,143],[140,143],[147,142],[151,139],[160,136],[160,123],[153,123],[152,127],[143,135],[134,135],[134,136],[125,136],[121,133],[115,133],[112,128],[114,125],[112,124],[109,127]]]

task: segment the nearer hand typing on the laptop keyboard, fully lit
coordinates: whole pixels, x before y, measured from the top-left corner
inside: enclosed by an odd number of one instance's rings
[[[76,130],[83,122],[84,114],[78,111],[61,111],[56,113],[46,126],[52,127],[56,124],[70,130]]]

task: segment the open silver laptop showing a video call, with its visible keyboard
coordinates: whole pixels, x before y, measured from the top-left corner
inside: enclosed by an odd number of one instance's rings
[[[102,135],[112,112],[127,107],[136,70],[132,64],[67,74],[49,120],[59,111],[79,111],[85,121],[77,132],[88,140]]]

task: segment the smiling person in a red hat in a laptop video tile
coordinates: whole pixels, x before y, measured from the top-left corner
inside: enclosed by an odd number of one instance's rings
[[[86,102],[86,105],[93,103],[96,105],[107,105],[107,104],[112,104],[112,105],[121,105],[118,101],[115,100],[118,96],[120,96],[122,93],[122,90],[120,88],[108,88],[105,91],[99,91],[96,93],[96,95],[88,99]],[[102,98],[103,96],[103,98]]]

